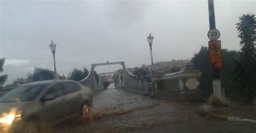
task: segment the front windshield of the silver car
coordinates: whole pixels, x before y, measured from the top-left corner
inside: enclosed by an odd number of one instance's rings
[[[32,101],[45,89],[45,87],[46,85],[19,86],[3,95],[3,97],[0,98],[0,102]]]

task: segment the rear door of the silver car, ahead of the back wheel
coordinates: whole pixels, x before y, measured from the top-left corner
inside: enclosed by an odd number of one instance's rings
[[[66,95],[66,110],[69,114],[78,114],[83,103],[83,95],[80,92],[80,86],[74,82],[63,83]]]

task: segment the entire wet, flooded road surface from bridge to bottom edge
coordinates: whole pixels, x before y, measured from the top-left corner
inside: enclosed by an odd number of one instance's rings
[[[214,121],[198,113],[200,104],[167,102],[107,89],[93,99],[90,115],[47,132],[255,132],[254,125]],[[44,132],[45,132],[44,131]]]

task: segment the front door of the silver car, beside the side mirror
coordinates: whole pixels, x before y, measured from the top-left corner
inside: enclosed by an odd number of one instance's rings
[[[55,121],[61,119],[65,114],[65,93],[62,83],[57,83],[52,85],[48,91],[44,94],[46,95],[54,95],[55,99],[44,101],[42,103],[42,111],[41,114],[44,119],[49,121]]]

